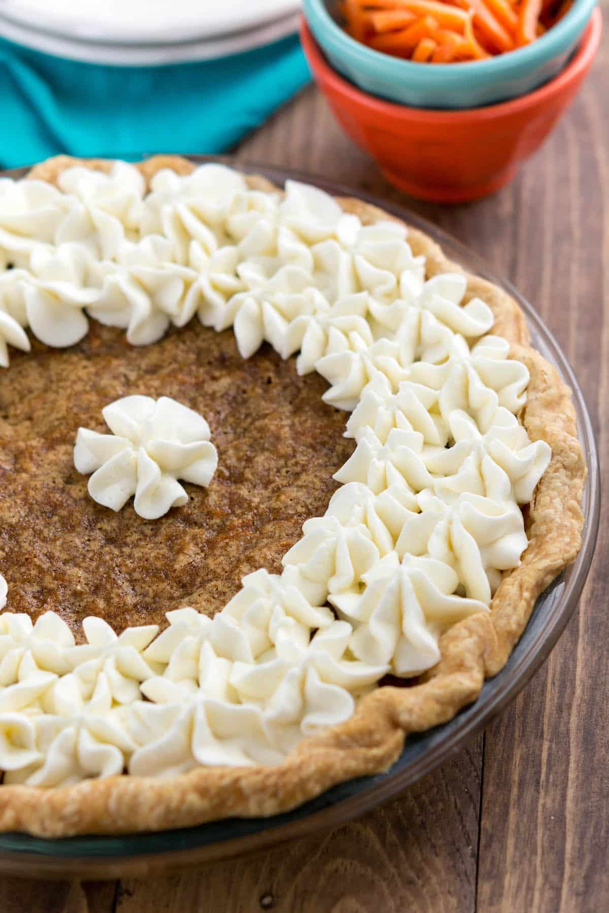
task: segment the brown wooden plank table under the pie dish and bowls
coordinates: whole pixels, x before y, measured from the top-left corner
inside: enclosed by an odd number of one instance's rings
[[[609,0],[602,0],[605,16]],[[520,176],[442,208],[393,190],[316,89],[237,150],[411,205],[534,302],[582,383],[609,456],[609,40]],[[605,479],[609,474],[605,467]],[[121,883],[0,880],[2,913],[600,913],[609,908],[609,524],[549,661],[485,734],[392,803],[253,860]]]

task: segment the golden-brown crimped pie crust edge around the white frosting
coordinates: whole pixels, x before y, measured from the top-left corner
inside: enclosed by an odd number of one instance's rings
[[[79,162],[66,156],[37,165],[29,174],[54,183],[75,163],[109,171],[103,160]],[[189,173],[182,158],[155,156],[141,163],[146,180],[166,167]],[[260,177],[251,187],[275,189]],[[387,219],[382,210],[352,198],[342,208],[364,224]],[[426,278],[463,270],[436,243],[409,228],[415,255],[425,254]],[[171,779],[118,776],[75,786],[0,788],[0,830],[44,837],[130,834],[187,827],[228,816],[257,817],[287,812],[331,786],[353,777],[386,771],[399,757],[405,737],[442,724],[474,701],[485,678],[496,675],[530,618],[535,601],[581,547],[581,502],[586,468],[577,440],[571,391],[539,352],[518,304],[488,281],[467,275],[467,298],[478,296],[495,317],[493,333],[507,339],[511,357],[530,371],[521,420],[531,441],[544,439],[551,463],[527,513],[530,544],[520,567],[505,572],[489,614],[475,614],[452,626],[440,640],[441,660],[411,687],[378,687],[359,702],[351,719],[305,739],[272,767],[202,768]]]

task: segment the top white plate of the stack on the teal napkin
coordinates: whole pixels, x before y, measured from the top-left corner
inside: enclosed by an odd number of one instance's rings
[[[78,41],[170,44],[230,36],[294,14],[299,0],[0,0],[0,15]]]

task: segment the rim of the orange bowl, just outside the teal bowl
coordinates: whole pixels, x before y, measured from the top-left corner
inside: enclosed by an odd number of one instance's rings
[[[400,104],[398,101],[388,101],[365,92],[345,79],[328,63],[323,55],[320,45],[313,36],[310,26],[304,16],[300,21],[300,41],[309,59],[311,69],[317,76],[333,85],[343,96],[348,96],[359,107],[373,110],[377,115],[404,118],[408,115],[411,120],[433,121],[443,125],[462,124],[464,121],[490,121],[498,117],[519,114],[523,110],[536,107],[550,100],[554,95],[560,94],[569,84],[577,79],[591,64],[601,43],[603,31],[603,16],[598,7],[593,9],[590,22],[583,33],[579,47],[577,47],[571,60],[562,68],[558,76],[544,83],[539,89],[533,89],[515,99],[499,101],[491,105],[482,105],[478,108],[462,108],[458,110],[438,110],[435,108],[415,108]],[[484,61],[476,61],[484,63]],[[441,65],[439,65],[441,66]],[[452,66],[446,64],[446,67]]]

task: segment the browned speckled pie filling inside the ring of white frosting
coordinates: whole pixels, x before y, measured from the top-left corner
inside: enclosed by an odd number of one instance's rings
[[[183,605],[214,614],[259,567],[279,572],[305,519],[324,512],[352,454],[327,384],[299,377],[265,345],[245,361],[232,331],[198,320],[153,346],[91,321],[68,351],[11,352],[0,382],[0,558],[7,608],[53,610],[80,636],[100,615],[120,632]],[[128,394],[170,396],[209,422],[219,463],[209,488],[164,517],[100,507],[74,468],[79,425],[107,432],[102,408]]]

